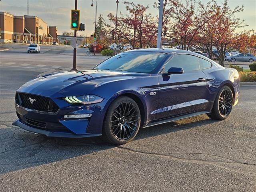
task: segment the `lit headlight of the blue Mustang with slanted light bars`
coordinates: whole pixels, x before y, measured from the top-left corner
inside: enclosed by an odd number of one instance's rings
[[[64,100],[68,103],[72,104],[92,104],[92,103],[100,103],[103,98],[96,95],[82,95],[82,96],[70,96],[65,97]]]

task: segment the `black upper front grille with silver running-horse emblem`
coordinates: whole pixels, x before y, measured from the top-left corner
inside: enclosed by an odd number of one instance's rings
[[[16,103],[24,108],[44,112],[57,112],[59,109],[50,98],[27,93],[17,93]]]

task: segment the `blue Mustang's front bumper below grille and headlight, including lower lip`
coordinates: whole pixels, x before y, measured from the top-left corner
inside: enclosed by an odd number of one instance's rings
[[[64,100],[60,100],[58,104],[62,102],[66,104]],[[18,120],[15,120],[13,125],[49,137],[82,138],[101,136],[107,103],[108,100],[103,100],[97,104],[69,106],[59,108],[54,113],[31,110],[15,104]],[[64,118],[65,115],[71,114],[92,114],[92,116],[90,118]]]

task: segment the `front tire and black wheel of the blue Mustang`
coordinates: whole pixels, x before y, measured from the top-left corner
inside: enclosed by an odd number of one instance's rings
[[[140,128],[140,108],[129,97],[114,100],[104,118],[102,136],[106,142],[122,145],[134,139]]]

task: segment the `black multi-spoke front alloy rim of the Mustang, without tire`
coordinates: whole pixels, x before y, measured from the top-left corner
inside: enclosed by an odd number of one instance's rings
[[[129,139],[138,128],[138,111],[130,102],[123,102],[114,110],[111,118],[111,130],[119,140]]]

